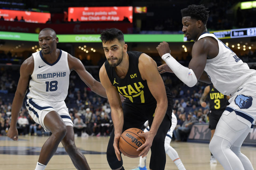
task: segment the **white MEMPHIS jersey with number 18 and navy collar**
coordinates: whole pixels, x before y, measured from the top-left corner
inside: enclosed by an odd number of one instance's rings
[[[69,65],[67,52],[60,50],[56,62],[50,64],[42,52],[33,53],[34,71],[29,82],[27,98],[43,101],[64,101],[69,88]]]

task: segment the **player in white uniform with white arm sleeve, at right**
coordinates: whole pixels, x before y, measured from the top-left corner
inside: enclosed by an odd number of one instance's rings
[[[212,82],[219,92],[231,97],[209,148],[225,170],[253,170],[240,148],[256,120],[256,71],[207,32],[208,13],[203,5],[190,5],[181,10],[182,32],[188,41],[195,41],[189,67],[179,64],[171,56],[169,45],[163,42],[157,50],[167,65],[159,66],[158,70],[174,73],[189,87],[195,86],[198,80]]]

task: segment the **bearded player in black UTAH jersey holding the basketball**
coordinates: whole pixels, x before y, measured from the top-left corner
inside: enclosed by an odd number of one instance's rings
[[[111,169],[119,170],[123,162],[118,149],[122,132],[141,129],[149,120],[150,131],[140,134],[146,138],[139,156],[151,148],[150,169],[163,170],[166,155],[164,141],[171,126],[173,99],[165,88],[155,61],[142,52],[127,52],[123,33],[111,28],[101,33],[107,61],[99,71],[111,107],[114,129],[107,146],[107,161]],[[125,97],[123,106],[119,94]]]

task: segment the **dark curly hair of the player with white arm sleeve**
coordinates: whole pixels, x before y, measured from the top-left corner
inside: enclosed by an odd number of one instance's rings
[[[181,10],[181,16],[182,18],[190,16],[193,19],[201,20],[206,25],[210,12],[207,10],[208,8],[205,8],[204,5],[189,5]]]

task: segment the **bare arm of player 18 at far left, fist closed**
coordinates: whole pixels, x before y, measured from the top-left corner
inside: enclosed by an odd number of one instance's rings
[[[13,99],[12,109],[11,109],[11,124],[8,130],[7,136],[15,141],[18,140],[18,130],[16,128],[19,112],[21,111],[23,99],[27,90],[27,85],[29,82],[29,77],[34,70],[34,59],[33,56],[25,60],[20,68],[20,77]]]

